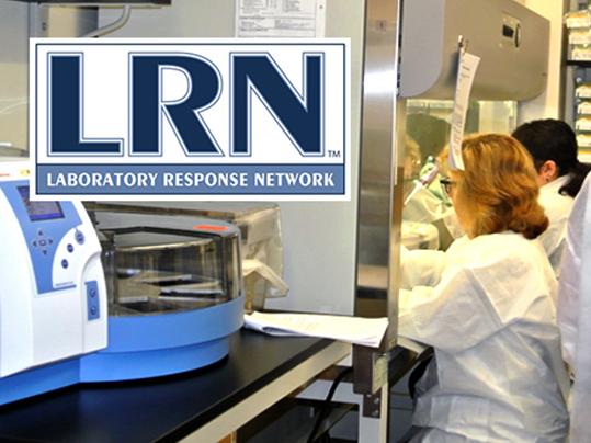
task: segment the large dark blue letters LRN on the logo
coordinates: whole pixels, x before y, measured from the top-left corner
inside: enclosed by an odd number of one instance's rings
[[[121,139],[83,137],[82,55],[49,56],[49,152],[121,155]],[[252,109],[257,95],[302,156],[323,155],[323,56],[304,55],[303,93],[292,86],[269,54],[231,55],[231,156],[251,155]],[[182,99],[164,101],[162,72],[175,69],[187,78]],[[132,54],[129,154],[161,154],[162,121],[168,118],[187,156],[221,156],[201,113],[220,96],[221,76],[208,59],[187,54]]]

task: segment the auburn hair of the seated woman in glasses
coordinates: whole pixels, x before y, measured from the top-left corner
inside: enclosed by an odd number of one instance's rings
[[[465,170],[453,172],[455,197],[471,214],[473,237],[512,230],[532,239],[546,230],[536,171],[518,140],[501,134],[467,137],[462,157]]]

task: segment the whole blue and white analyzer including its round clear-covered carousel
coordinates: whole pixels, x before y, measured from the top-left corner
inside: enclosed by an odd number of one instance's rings
[[[0,162],[0,405],[224,359],[242,326],[240,232],[177,215],[31,201]]]

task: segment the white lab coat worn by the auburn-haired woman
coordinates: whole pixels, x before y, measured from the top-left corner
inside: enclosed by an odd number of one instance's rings
[[[402,255],[412,289],[400,291],[398,332],[435,350],[417,386],[417,440],[564,442],[568,376],[539,242],[503,232]]]

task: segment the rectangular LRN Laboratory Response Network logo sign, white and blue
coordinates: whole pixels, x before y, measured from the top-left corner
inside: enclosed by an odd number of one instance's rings
[[[32,39],[39,200],[350,198],[348,39]]]

